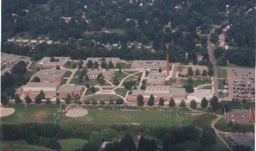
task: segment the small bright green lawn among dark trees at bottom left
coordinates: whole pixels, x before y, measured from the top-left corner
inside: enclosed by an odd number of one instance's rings
[[[83,144],[87,143],[87,140],[83,139],[62,139],[59,140],[61,145],[61,151],[69,151],[69,150],[76,150],[78,148],[82,148]]]

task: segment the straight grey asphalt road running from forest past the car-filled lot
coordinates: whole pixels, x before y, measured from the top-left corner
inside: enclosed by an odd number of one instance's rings
[[[214,33],[214,29],[211,30],[212,34]],[[214,87],[214,93],[213,95],[219,98],[219,92],[218,92],[218,74],[217,74],[217,66],[216,63],[214,62],[214,54],[213,54],[213,43],[210,42],[210,34],[209,34],[209,38],[208,38],[208,52],[209,52],[209,58],[210,58],[210,62],[213,64],[213,87]]]

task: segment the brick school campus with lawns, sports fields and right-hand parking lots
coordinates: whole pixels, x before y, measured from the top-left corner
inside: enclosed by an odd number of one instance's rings
[[[9,56],[4,53],[1,55]],[[71,60],[69,57],[54,57],[54,59],[52,62],[50,60],[53,59],[50,57],[38,62],[29,61],[27,70],[34,74],[27,84],[16,89],[15,96],[19,98],[10,99],[10,103],[1,108],[1,124],[54,123],[67,129],[114,125],[124,131],[132,127],[152,130],[173,126],[193,125],[198,129],[211,126],[218,134],[218,143],[213,145],[212,149],[222,147],[223,150],[229,150],[237,143],[250,145],[253,148],[254,134],[248,132],[254,131],[255,109],[251,108],[255,104],[255,94],[250,95],[254,100],[240,104],[237,100],[230,100],[229,98],[236,97],[236,94],[232,97],[229,93],[224,98],[219,97],[223,104],[220,106],[223,107],[214,109],[214,103],[211,103],[214,99],[218,100],[217,97],[213,97],[214,77],[187,75],[189,68],[206,70],[204,66],[184,66],[180,63],[169,63],[168,59],[147,61],[124,61],[120,58],[87,58],[83,61]],[[94,68],[98,62],[98,68]],[[109,62],[113,63],[113,67],[108,68],[111,64]],[[108,66],[103,68],[103,63]],[[77,66],[69,67],[70,65]],[[42,69],[38,72],[33,71],[36,68]],[[244,70],[247,69],[235,68],[231,72],[244,74]],[[218,68],[218,71],[225,72],[226,69]],[[255,76],[253,70],[248,69],[248,71],[251,77]],[[82,75],[82,72],[86,74]],[[186,74],[186,77],[180,77],[183,74]],[[228,77],[232,73],[228,72],[227,75],[218,72],[218,74]],[[104,82],[100,82],[100,79]],[[191,79],[192,83],[189,81]],[[219,79],[222,81],[221,77]],[[224,89],[235,90],[235,86],[241,85],[237,80],[234,83],[228,82],[224,85]],[[188,86],[186,87],[186,84],[193,85],[192,91]],[[255,90],[255,87],[251,85],[250,90]],[[222,91],[228,90],[218,90],[217,94]],[[37,100],[42,92],[45,98]],[[27,102],[27,98],[32,102]],[[202,105],[202,99],[206,100],[206,105]],[[236,109],[232,103],[239,103],[240,107]],[[230,134],[229,131],[238,134]],[[141,130],[137,132],[138,135],[143,133]],[[239,135],[245,138],[240,140]]]

